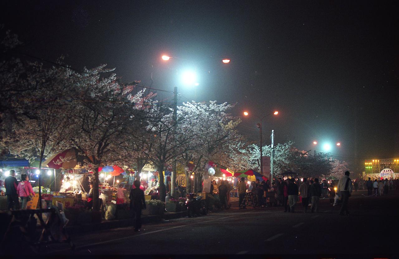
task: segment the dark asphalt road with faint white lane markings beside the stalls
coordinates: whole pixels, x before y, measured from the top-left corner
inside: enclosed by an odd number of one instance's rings
[[[365,197],[358,191],[350,198],[350,215],[340,216],[339,206],[320,200],[318,213],[284,213],[281,207],[232,209],[204,217],[172,219],[145,225],[139,233],[130,228],[74,236],[75,251],[53,247],[51,254],[263,254],[323,255],[318,258],[393,258],[398,254],[399,192]],[[375,256],[375,257],[373,257]],[[382,257],[381,257],[382,256]],[[309,257],[310,258],[310,257]],[[345,257],[347,258],[347,257]]]

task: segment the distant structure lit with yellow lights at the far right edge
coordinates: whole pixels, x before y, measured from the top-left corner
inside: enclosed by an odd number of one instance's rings
[[[399,178],[399,158],[389,159],[366,159],[364,161],[365,171],[363,179],[398,179]]]

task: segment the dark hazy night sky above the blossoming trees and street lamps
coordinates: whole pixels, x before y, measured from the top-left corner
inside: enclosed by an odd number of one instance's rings
[[[22,53],[65,55],[79,70],[106,63],[124,82],[178,86],[180,102],[237,102],[236,116],[279,110],[263,120],[264,144],[274,129],[277,143],[313,152],[314,140],[316,150],[329,141],[352,163],[399,157],[395,1],[2,1],[0,9]],[[178,80],[185,68],[197,71],[195,89]],[[240,126],[251,140],[257,121]]]

